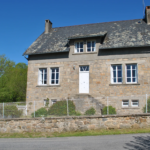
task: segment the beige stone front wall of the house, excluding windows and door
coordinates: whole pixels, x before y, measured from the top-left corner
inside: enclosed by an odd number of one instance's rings
[[[111,105],[116,108],[117,114],[142,113],[146,103],[146,94],[150,94],[150,54],[144,54],[148,48],[137,48],[141,54],[136,53],[135,49],[120,50],[122,55],[102,56],[97,52],[74,54],[74,45],[68,54],[49,54],[35,55],[29,57],[28,62],[28,82],[27,99],[28,103],[36,101],[36,109],[43,107],[43,101],[51,99],[71,99],[77,106],[77,110],[84,113],[88,108],[94,107],[97,114],[101,114],[104,106]],[[107,51],[106,51],[107,53]],[[113,52],[112,52],[113,54]],[[66,56],[60,58],[61,56]],[[45,58],[44,58],[45,57]],[[59,59],[57,59],[59,58]],[[123,83],[111,84],[111,65],[121,64],[123,71]],[[125,65],[137,64],[138,83],[126,84]],[[79,67],[89,65],[89,93],[79,93]],[[59,67],[60,84],[50,85],[50,68]],[[47,68],[48,75],[46,86],[38,85],[39,68]],[[129,107],[122,107],[122,100],[129,100]],[[139,100],[139,107],[132,107],[131,101]],[[33,112],[33,107],[28,110]]]

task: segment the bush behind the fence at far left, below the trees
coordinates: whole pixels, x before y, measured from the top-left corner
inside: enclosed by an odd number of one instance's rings
[[[22,114],[23,114],[23,111],[18,110],[16,106],[13,106],[13,105],[4,106],[5,117],[11,116],[12,118],[19,118],[20,116],[22,116]]]

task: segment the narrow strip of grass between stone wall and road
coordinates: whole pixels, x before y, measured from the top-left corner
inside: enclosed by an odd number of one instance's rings
[[[111,129],[111,130],[90,130],[77,132],[63,132],[63,133],[0,133],[0,138],[51,138],[51,137],[73,137],[73,136],[98,136],[98,135],[117,135],[117,134],[137,134],[150,133],[148,129]]]

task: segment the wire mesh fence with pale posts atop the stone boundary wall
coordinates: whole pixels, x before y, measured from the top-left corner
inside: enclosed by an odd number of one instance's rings
[[[0,118],[150,113],[150,94],[0,103]]]

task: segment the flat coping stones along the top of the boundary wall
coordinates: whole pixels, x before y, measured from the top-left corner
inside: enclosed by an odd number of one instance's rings
[[[94,118],[119,118],[119,117],[144,117],[150,116],[150,113],[147,114],[130,114],[130,115],[94,115],[94,116],[64,116],[64,117],[48,117],[45,120],[52,120],[52,119],[94,119]],[[18,121],[18,120],[41,120],[41,117],[37,118],[9,118],[9,119],[0,119],[0,121]]]

